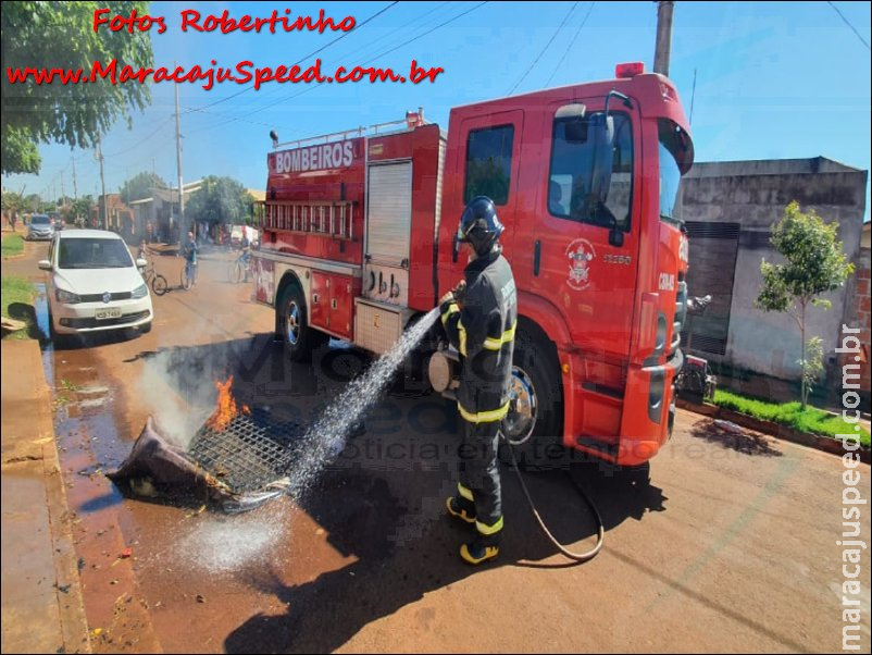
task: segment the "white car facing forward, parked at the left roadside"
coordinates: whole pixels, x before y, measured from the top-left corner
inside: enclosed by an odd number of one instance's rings
[[[137,328],[151,330],[153,310],[140,270],[124,240],[102,230],[58,232],[49,258],[46,291],[54,334],[86,334]]]

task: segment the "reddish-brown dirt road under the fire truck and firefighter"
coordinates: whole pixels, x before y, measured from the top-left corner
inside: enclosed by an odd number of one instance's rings
[[[43,248],[4,272],[38,280]],[[102,471],[148,416],[190,434],[213,407],[213,381],[233,374],[239,399],[306,421],[364,363],[334,345],[311,366],[287,364],[271,310],[225,282],[228,261],[204,255],[198,286],[155,298],[150,334],[45,351],[96,652],[842,648],[842,460],[728,436],[681,410],[649,486],[571,470],[607,529],[583,566],[543,537],[508,469],[499,560],[459,560],[466,532],[444,499],[460,425],[450,405],[408,388],[376,406],[304,507],[283,498],[225,516],[124,497]],[[180,260],[158,268],[174,283]],[[869,498],[870,469],[858,470]],[[593,517],[565,471],[527,480],[556,535],[593,545]],[[869,652],[868,551],[861,568]]]

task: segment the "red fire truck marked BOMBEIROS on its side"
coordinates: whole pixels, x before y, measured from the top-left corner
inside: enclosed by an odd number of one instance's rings
[[[454,235],[489,196],[518,286],[514,442],[616,465],[669,438],[685,319],[678,183],[693,144],[675,87],[641,64],[614,79],[476,102],[448,133],[410,112],[267,155],[254,297],[292,359],[327,336],[381,354],[461,277]],[[456,353],[433,354],[437,392]]]

